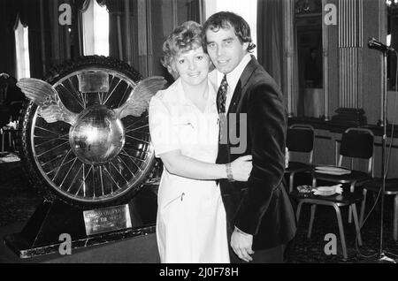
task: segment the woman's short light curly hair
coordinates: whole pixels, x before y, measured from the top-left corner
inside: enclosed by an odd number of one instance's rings
[[[175,27],[163,43],[162,65],[176,79],[179,75],[172,69],[174,58],[180,53],[200,48],[202,45],[202,26],[193,20],[186,21]]]

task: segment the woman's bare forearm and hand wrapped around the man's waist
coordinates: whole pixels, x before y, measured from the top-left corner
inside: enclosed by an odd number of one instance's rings
[[[165,169],[170,173],[194,179],[227,178],[226,164],[205,163],[172,150],[160,155]],[[234,180],[246,181],[251,171],[251,156],[242,156],[231,163]]]

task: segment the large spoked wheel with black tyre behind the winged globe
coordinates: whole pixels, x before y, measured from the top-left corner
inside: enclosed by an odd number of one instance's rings
[[[85,92],[89,72],[107,73],[104,91]],[[34,186],[53,200],[93,208],[125,203],[150,179],[155,159],[148,112],[116,118],[142,76],[109,57],[82,57],[60,65],[47,82],[57,89],[75,124],[47,123],[34,103],[27,103],[19,122],[21,158]]]

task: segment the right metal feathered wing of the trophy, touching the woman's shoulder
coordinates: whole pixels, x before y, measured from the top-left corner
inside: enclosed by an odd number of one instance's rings
[[[148,109],[150,98],[163,89],[167,81],[162,76],[153,76],[141,80],[135,87],[126,103],[115,110],[119,118],[127,115],[140,117]]]

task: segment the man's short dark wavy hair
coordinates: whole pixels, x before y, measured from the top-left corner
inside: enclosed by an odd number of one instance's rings
[[[219,28],[235,29],[235,35],[241,43],[249,42],[248,51],[256,48],[256,45],[251,40],[250,27],[248,22],[241,16],[232,11],[219,11],[210,16],[203,24],[203,49],[207,51],[206,31],[211,30],[218,32]]]

